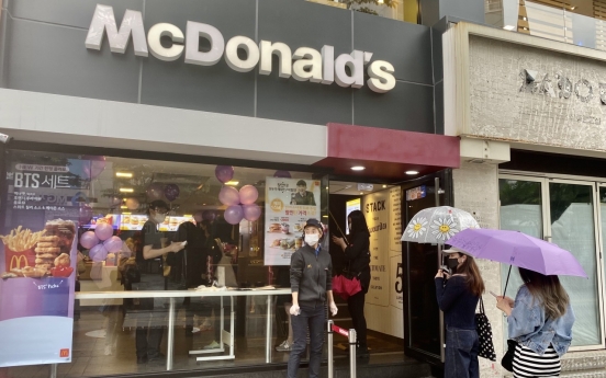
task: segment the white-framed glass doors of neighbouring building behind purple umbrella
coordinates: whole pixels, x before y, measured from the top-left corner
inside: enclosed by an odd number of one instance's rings
[[[604,346],[603,234],[606,232],[606,184],[595,182],[500,175],[501,229],[517,230],[570,251],[588,279],[561,276],[576,314],[573,350]],[[508,265],[502,265],[505,284]],[[521,285],[512,270],[507,295]]]

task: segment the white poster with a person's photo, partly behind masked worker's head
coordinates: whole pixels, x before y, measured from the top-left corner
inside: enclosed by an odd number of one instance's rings
[[[303,227],[321,220],[319,180],[266,179],[265,265],[290,265],[303,245]]]

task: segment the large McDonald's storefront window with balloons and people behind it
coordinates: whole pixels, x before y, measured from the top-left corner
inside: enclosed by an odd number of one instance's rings
[[[72,363],[59,364],[59,377],[162,371],[171,342],[175,370],[287,360],[274,346],[289,334],[290,295],[273,296],[268,309],[267,296],[202,291],[171,299],[162,291],[213,283],[290,290],[290,255],[301,247],[304,221],[327,218],[326,176],[33,151],[9,151],[5,164],[7,229],[0,233],[41,232],[27,237],[37,244],[15,247],[24,260],[7,254],[0,263],[15,272],[9,282],[29,282],[33,276],[21,272],[31,266],[41,282],[74,274],[81,294],[106,293],[74,303]],[[63,254],[72,271],[61,271],[56,259]],[[109,295],[128,290],[143,296]],[[30,373],[9,369],[11,377]]]

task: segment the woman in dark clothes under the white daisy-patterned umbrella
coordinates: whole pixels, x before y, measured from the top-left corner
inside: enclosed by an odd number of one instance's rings
[[[438,306],[446,323],[445,378],[479,378],[480,342],[475,331],[475,308],[484,293],[484,282],[472,256],[456,249],[444,250],[446,265],[436,274]],[[446,278],[449,278],[445,282]]]

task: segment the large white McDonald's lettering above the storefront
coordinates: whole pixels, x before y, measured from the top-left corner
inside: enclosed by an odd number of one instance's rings
[[[158,23],[152,26],[145,35],[143,16],[138,11],[126,10],[120,28],[115,23],[112,7],[97,4],[86,46],[90,49],[101,49],[103,35],[112,53],[124,54],[128,47],[128,39],[133,38],[135,55],[154,57],[165,61],[179,59],[183,53],[184,61],[190,65],[213,66],[223,57],[235,71],[248,72],[257,66],[260,75],[270,75],[272,71],[272,55],[280,59],[278,72],[281,78],[293,78],[298,81],[332,84],[337,82],[344,88],[362,88],[364,85],[364,66],[368,66],[368,87],[377,93],[385,93],[395,87],[393,65],[384,60],[371,62],[372,53],[354,50],[351,54],[341,54],[335,59],[335,47],[325,45],[322,51],[311,47],[299,47],[294,53],[281,42],[260,41],[259,45],[249,37],[237,35],[227,41],[221,32],[209,24],[188,21],[186,34],[169,23]],[[170,47],[160,44],[161,37],[172,41]],[[203,37],[211,44],[207,51],[200,51],[199,38]],[[246,51],[246,58],[238,56],[238,50]],[[346,71],[349,68],[349,73]]]

